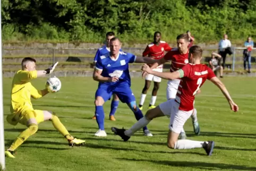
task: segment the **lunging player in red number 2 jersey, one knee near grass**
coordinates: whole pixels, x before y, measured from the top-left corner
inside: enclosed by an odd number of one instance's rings
[[[206,150],[208,156],[212,155],[214,149],[214,141],[192,141],[192,140],[178,140],[183,125],[186,120],[193,113],[194,96],[208,79],[214,83],[223,92],[226,97],[231,110],[238,111],[238,106],[232,100],[224,84],[215,76],[214,72],[205,64],[200,64],[202,58],[202,48],[200,46],[192,46],[189,53],[189,64],[186,64],[182,69],[175,72],[156,72],[152,71],[147,64],[142,67],[143,71],[149,74],[159,76],[163,79],[174,80],[181,78],[181,83],[178,88],[175,99],[167,100],[156,108],[148,110],[147,114],[135,123],[131,129],[117,129],[112,127],[112,131],[120,135],[124,141],[130,139],[134,132],[140,130],[143,126],[156,117],[168,116],[170,117],[169,132],[167,138],[167,146],[171,149],[193,149],[203,148]]]

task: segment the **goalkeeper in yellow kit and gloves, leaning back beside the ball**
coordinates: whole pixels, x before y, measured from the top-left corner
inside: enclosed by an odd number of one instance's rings
[[[18,138],[5,151],[6,157],[14,157],[14,150],[35,134],[38,130],[38,124],[44,121],[51,121],[56,130],[58,130],[69,142],[70,146],[80,146],[85,141],[76,139],[69,134],[65,126],[59,121],[54,112],[46,110],[35,110],[32,107],[30,97],[38,99],[48,93],[47,89],[37,90],[32,86],[30,80],[36,79],[40,76],[50,74],[54,71],[56,65],[49,67],[49,69],[37,71],[36,60],[30,57],[25,57],[22,62],[22,70],[19,70],[13,78],[12,92],[11,92],[11,114],[7,116],[7,122],[16,125],[21,123],[28,128],[24,130]]]

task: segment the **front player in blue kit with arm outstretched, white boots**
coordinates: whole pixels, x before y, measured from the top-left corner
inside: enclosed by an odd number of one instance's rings
[[[136,106],[135,97],[130,88],[129,63],[152,64],[157,62],[157,59],[136,57],[130,53],[120,52],[121,42],[118,38],[112,38],[109,44],[110,52],[100,56],[93,72],[93,79],[99,81],[95,94],[95,113],[99,130],[95,136],[107,136],[104,129],[103,105],[113,93],[131,108],[137,121],[143,117],[141,110]],[[146,136],[153,136],[147,127],[143,127],[143,132]]]

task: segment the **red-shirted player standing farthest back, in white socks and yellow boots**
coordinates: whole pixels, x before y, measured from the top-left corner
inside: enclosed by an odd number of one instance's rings
[[[148,56],[154,59],[160,59],[162,57],[164,57],[164,52],[168,52],[170,51],[172,48],[169,47],[169,45],[167,44],[167,42],[162,41],[161,40],[161,33],[159,31],[156,31],[154,33],[154,41],[151,42],[151,44],[149,44],[146,49],[144,50],[144,52],[142,53],[142,56]],[[156,69],[153,69],[154,71],[157,72],[163,72],[163,65],[159,65],[156,67]],[[140,98],[140,104],[139,104],[139,108],[142,110],[142,106],[144,104],[144,101],[146,99],[147,96],[147,92],[148,89],[150,87],[151,81],[154,82],[154,88],[152,90],[152,97],[151,97],[151,101],[149,103],[149,109],[155,108],[155,103],[156,103],[156,99],[157,99],[157,91],[159,89],[159,85],[161,82],[161,78],[159,78],[158,76],[154,76],[151,74],[148,74],[145,78],[145,86],[142,90],[141,93],[141,98]]]

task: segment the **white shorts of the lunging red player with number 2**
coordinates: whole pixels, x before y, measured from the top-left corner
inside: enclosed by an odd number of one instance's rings
[[[175,99],[169,99],[159,105],[161,112],[167,117],[170,117],[169,129],[175,133],[181,133],[183,126],[188,118],[193,113],[190,111],[179,110],[180,104],[175,102]]]

